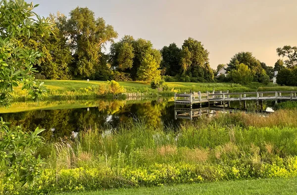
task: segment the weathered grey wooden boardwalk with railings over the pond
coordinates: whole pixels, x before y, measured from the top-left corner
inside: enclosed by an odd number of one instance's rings
[[[215,102],[230,102],[230,101],[247,101],[247,100],[297,100],[297,91],[273,91],[273,92],[241,92],[229,93],[217,92],[193,92],[190,94],[175,94],[175,104],[196,104],[196,103],[215,103]]]

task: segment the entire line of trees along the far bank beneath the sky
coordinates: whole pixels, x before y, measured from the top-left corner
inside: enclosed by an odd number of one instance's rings
[[[185,40],[181,47],[172,43],[158,50],[150,41],[129,35],[114,42],[117,32],[87,7],[71,10],[68,17],[58,13],[49,18],[54,25],[51,34],[41,36],[32,32],[30,38],[18,37],[19,47],[42,51],[40,63],[34,65],[40,73],[36,75],[39,79],[151,82],[163,78],[170,82],[267,84],[274,71],[279,71],[278,83],[289,85],[282,82],[281,76],[289,71],[293,74],[297,66],[297,47],[284,46],[278,48],[277,53],[286,60],[279,59],[274,68],[256,59],[251,52],[239,52],[226,64],[227,74],[214,77],[224,64],[211,69],[208,50],[193,38]],[[107,42],[111,42],[110,52],[104,53]]]

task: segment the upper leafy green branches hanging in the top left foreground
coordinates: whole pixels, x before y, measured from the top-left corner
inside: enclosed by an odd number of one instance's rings
[[[0,106],[7,106],[11,101],[14,87],[23,83],[23,89],[37,87],[34,81],[33,65],[39,63],[42,54],[35,49],[23,49],[18,46],[19,36],[30,37],[32,32],[45,36],[52,24],[49,19],[40,18],[32,9],[33,4],[25,1],[0,1]],[[36,16],[37,19],[34,19]]]

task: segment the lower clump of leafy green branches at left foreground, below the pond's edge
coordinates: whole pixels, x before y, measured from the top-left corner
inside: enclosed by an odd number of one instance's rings
[[[43,161],[36,157],[37,147],[42,144],[38,136],[44,129],[24,132],[20,126],[8,128],[9,123],[0,121],[0,164],[4,164],[6,179],[22,184],[32,182],[42,173]]]

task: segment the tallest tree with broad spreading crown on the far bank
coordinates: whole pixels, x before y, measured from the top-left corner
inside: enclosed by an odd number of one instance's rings
[[[87,78],[94,75],[99,68],[102,48],[117,37],[113,27],[106,25],[103,18],[96,18],[87,7],[71,10],[69,18],[59,17],[57,26],[74,53],[75,62],[71,67],[74,76]]]

